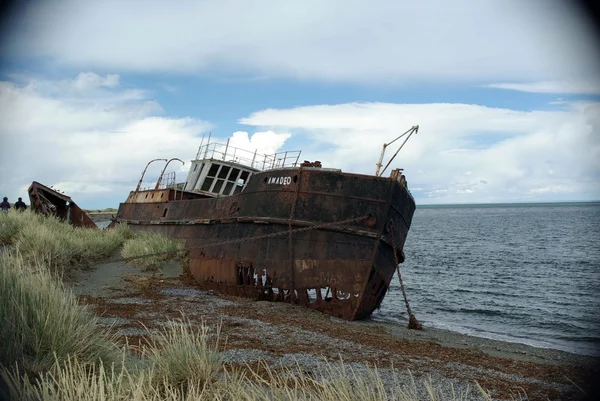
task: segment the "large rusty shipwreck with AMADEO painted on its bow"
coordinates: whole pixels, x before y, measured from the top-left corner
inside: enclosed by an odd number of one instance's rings
[[[300,162],[299,151],[260,155],[209,137],[185,182],[163,178],[165,165],[142,189],[144,169],[113,225],[184,240],[203,288],[363,319],[404,260],[415,210],[402,169],[379,172],[388,145],[376,174],[362,175]]]

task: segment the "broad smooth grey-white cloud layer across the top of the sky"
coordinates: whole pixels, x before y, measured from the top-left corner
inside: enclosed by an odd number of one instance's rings
[[[63,0],[24,9],[0,52],[80,70],[223,79],[525,82],[597,79],[591,32],[557,0],[174,0],[143,10]]]

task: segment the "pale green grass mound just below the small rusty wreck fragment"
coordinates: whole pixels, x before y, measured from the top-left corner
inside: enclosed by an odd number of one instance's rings
[[[42,263],[63,272],[106,259],[132,236],[127,227],[115,230],[73,227],[55,216],[29,210],[1,217],[0,243],[14,245],[28,263]]]

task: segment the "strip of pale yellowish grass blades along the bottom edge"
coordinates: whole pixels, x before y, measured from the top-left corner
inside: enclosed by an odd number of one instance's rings
[[[184,363],[183,361],[181,362]],[[273,371],[267,379],[256,380],[252,374],[238,374],[222,371],[216,380],[202,382],[187,380],[185,385],[175,384],[163,377],[157,382],[154,367],[131,369],[122,363],[117,368],[100,364],[89,368],[76,358],[63,361],[53,372],[40,375],[32,380],[19,376],[16,370],[3,372],[11,394],[15,400],[140,400],[140,401],[181,401],[181,400],[314,400],[338,401],[455,401],[455,400],[491,400],[491,397],[478,387],[472,393],[456,393],[452,390],[436,389],[431,380],[417,384],[414,380],[407,385],[392,385],[383,388],[377,370],[368,369],[367,378],[357,381],[358,376],[339,376],[348,374],[349,368],[343,364],[333,373],[334,376],[313,378],[300,369],[285,368]],[[324,373],[324,372],[323,372]],[[326,374],[326,373],[324,373]],[[410,372],[408,373],[410,374]],[[375,382],[371,382],[375,379]],[[337,385],[342,385],[338,388]],[[373,389],[371,385],[377,387]]]

